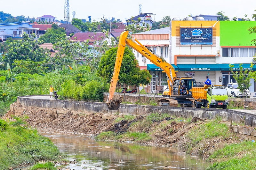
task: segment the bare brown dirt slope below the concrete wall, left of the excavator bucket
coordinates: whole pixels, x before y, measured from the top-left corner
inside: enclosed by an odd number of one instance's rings
[[[106,119],[103,114],[84,113],[83,116],[72,111],[58,115],[56,109],[37,107],[22,107],[20,103],[13,103],[15,110],[24,110],[20,116],[27,115],[26,122],[41,131],[48,132],[72,132],[84,134],[99,134],[112,125],[114,118]],[[12,110],[12,109],[11,109]],[[13,111],[9,110],[3,118],[11,118]]]

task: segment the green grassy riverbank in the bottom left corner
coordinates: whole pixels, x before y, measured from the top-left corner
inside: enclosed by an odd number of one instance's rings
[[[52,141],[30,129],[25,118],[0,119],[0,169],[64,159]]]

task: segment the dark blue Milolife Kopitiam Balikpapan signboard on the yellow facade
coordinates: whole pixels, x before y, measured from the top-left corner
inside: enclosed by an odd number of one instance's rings
[[[212,28],[180,28],[180,45],[212,45]]]

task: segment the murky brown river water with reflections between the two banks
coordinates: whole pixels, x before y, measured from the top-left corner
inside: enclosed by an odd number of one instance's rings
[[[68,155],[70,169],[206,169],[210,164],[176,148],[101,142],[92,137],[74,134],[43,133]]]

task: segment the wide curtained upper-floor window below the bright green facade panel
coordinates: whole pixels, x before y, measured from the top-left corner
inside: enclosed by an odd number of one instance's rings
[[[253,57],[256,48],[222,48],[223,57]]]

